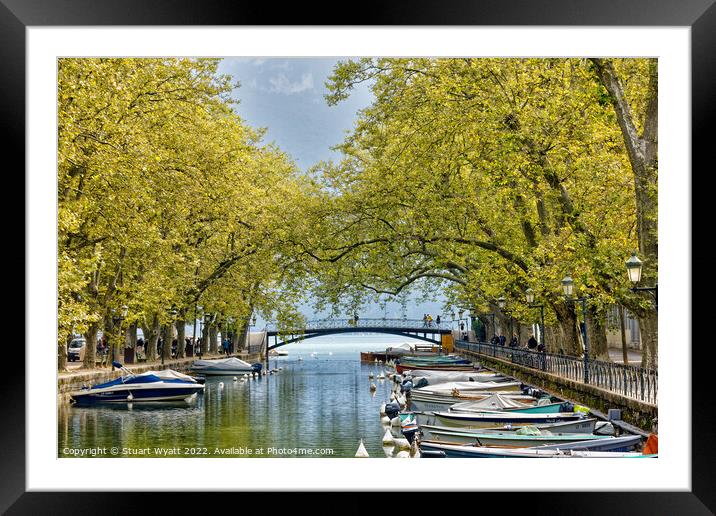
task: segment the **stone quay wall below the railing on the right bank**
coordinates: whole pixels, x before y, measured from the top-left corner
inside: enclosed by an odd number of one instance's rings
[[[543,389],[562,399],[589,407],[599,416],[604,417],[609,409],[620,409],[622,421],[645,433],[656,430],[658,407],[651,403],[473,351],[460,349],[458,353],[478,361],[489,369],[517,378],[523,383]]]

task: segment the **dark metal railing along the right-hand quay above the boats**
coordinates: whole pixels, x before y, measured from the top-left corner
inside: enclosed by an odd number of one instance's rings
[[[584,383],[584,360],[582,357],[462,340],[455,342],[455,347]],[[589,368],[589,385],[627,398],[646,403],[657,403],[659,376],[656,369],[594,359],[589,360],[587,367]]]

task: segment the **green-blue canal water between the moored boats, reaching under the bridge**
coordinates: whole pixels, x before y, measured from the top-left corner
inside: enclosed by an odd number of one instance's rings
[[[283,368],[279,373],[244,382],[207,378],[204,394],[191,404],[63,404],[58,456],[353,457],[360,439],[371,457],[391,456],[397,450],[381,444],[380,405],[393,383],[370,380],[384,367],[361,363],[360,351],[409,340],[363,334],[289,344],[279,348],[288,356],[271,358],[271,368]]]

